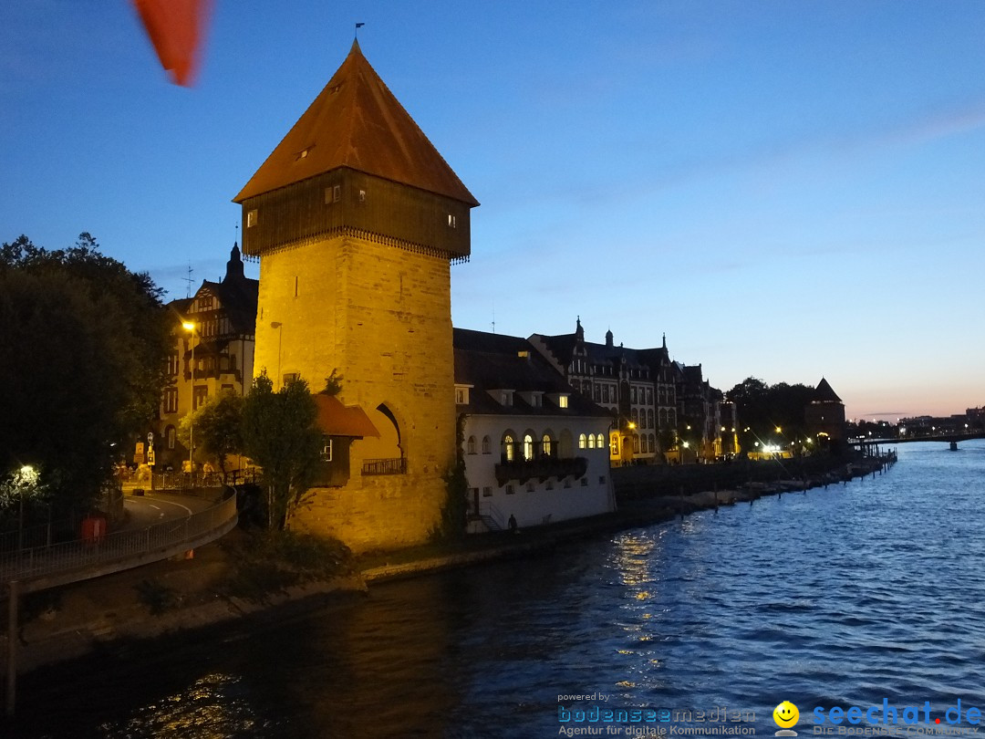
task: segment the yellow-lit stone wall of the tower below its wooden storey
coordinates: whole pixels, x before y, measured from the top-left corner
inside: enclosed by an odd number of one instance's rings
[[[353,443],[349,484],[315,489],[292,526],[356,551],[426,541],[455,445],[447,259],[351,236],[264,254],[256,330],[256,372],[275,387],[296,372],[317,392],[337,369],[340,399],[381,433]],[[401,456],[403,474],[362,474]]]

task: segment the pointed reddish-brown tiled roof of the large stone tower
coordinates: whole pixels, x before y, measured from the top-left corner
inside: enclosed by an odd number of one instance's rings
[[[362,56],[358,41],[233,202],[343,167],[479,205]]]

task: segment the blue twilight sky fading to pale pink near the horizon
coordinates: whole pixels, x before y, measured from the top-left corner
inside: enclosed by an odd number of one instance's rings
[[[985,404],[985,2],[216,0],[198,84],[126,0],[0,7],[0,241],[82,231],[184,297],[349,51],[480,200],[456,326]],[[253,266],[254,276],[257,268]]]

